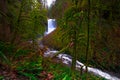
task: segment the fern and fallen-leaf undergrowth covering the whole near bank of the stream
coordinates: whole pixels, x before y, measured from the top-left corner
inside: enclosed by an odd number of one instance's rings
[[[104,80],[73,72],[61,61],[44,58],[41,51],[16,49],[14,45],[0,42],[0,80]]]

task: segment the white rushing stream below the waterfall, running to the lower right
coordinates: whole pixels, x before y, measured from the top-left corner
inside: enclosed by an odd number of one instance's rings
[[[52,57],[52,56],[55,55],[56,52],[58,52],[58,51],[55,51],[55,50],[54,51],[50,51],[49,50],[48,52],[44,53],[44,56],[45,57]],[[57,58],[61,59],[62,63],[66,64],[68,66],[71,66],[71,64],[72,64],[72,57],[70,55],[59,54],[57,56]],[[82,67],[83,70],[86,69],[86,66],[83,63],[81,63],[81,62],[79,62],[77,60],[76,61],[76,69],[80,70],[81,67]],[[105,78],[107,80],[120,80],[119,78],[117,78],[117,77],[115,77],[113,75],[110,75],[109,73],[106,73],[106,72],[104,72],[104,71],[102,71],[100,69],[97,69],[97,68],[88,67],[88,72],[93,73],[96,76],[103,77],[103,78]]]

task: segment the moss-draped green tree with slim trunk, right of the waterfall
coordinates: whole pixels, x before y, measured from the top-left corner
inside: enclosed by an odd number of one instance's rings
[[[67,34],[62,35],[62,37],[69,38],[69,44],[73,43],[73,66],[75,66],[75,62],[77,59],[77,46],[78,42],[83,38],[84,35],[81,34],[80,29],[81,29],[81,24],[83,21],[84,17],[84,11],[80,11],[79,7],[77,5],[73,5],[70,7],[70,9],[66,10],[65,15],[64,15],[64,25],[62,25],[62,31]],[[85,18],[85,17],[84,17]]]

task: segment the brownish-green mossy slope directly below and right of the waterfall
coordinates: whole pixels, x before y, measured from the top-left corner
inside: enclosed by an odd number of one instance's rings
[[[61,29],[58,27],[52,33],[46,35],[42,39],[43,44],[46,45],[46,46],[48,46],[48,47],[50,47],[50,48],[57,49],[57,50],[60,50],[64,46],[66,46],[67,43],[68,43],[68,41],[66,41],[66,40],[62,41],[60,30]]]

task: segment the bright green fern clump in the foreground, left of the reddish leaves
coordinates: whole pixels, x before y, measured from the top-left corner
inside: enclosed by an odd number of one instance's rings
[[[42,58],[38,56],[33,56],[32,59],[25,60],[22,63],[19,62],[17,66],[17,71],[20,76],[26,76],[30,80],[38,80],[37,76],[39,76],[40,72],[43,71],[41,62]]]

